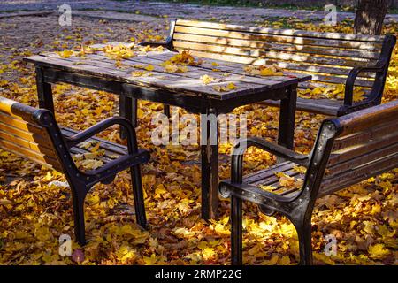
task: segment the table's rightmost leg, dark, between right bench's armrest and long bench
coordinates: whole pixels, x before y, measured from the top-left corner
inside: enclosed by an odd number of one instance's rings
[[[297,85],[287,88],[288,95],[280,101],[278,143],[293,149],[295,136],[295,105],[297,103]]]

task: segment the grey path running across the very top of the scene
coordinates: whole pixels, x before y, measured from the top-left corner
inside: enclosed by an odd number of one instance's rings
[[[325,11],[285,10],[250,7],[208,6],[197,4],[162,3],[151,1],[105,1],[105,0],[4,0],[0,11],[57,11],[61,4],[70,4],[73,11],[123,11],[135,15],[149,15],[155,18],[189,18],[226,21],[233,23],[259,22],[264,19],[289,18],[322,21]],[[121,13],[111,13],[111,17]],[[249,15],[249,17],[248,17]],[[339,12],[338,20],[354,19],[352,12]],[[126,18],[125,16],[119,16]],[[398,15],[389,14],[386,22],[397,22]]]

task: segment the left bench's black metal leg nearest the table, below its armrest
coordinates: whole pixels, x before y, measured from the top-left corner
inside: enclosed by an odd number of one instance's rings
[[[134,194],[134,209],[137,224],[142,228],[147,229],[147,217],[145,215],[145,203],[142,191],[142,179],[140,165],[136,165],[130,168],[131,181],[133,185]]]

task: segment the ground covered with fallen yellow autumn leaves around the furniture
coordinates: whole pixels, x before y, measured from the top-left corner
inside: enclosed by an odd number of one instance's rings
[[[264,22],[264,26],[352,32],[352,22],[325,27],[294,19]],[[79,49],[81,44],[111,41],[159,41],[164,24],[126,24],[73,19],[59,27],[56,17],[0,20],[1,96],[37,106],[34,68],[22,57],[41,51]],[[385,33],[397,34],[398,25]],[[395,48],[383,102],[398,98],[398,49]],[[217,66],[216,66],[217,68]],[[150,70],[148,70],[150,71]],[[209,74],[210,75],[210,74]],[[204,79],[203,79],[204,80]],[[205,78],[205,80],[210,80]],[[57,85],[53,88],[56,117],[63,126],[82,130],[115,115],[118,97],[109,93]],[[301,96],[341,97],[343,89],[302,92]],[[129,174],[122,172],[110,185],[97,185],[88,195],[88,245],[80,262],[59,256],[58,238],[73,236],[71,195],[64,175],[0,150],[0,264],[230,264],[229,203],[221,203],[218,221],[200,218],[200,163],[198,146],[154,146],[150,140],[157,103],[140,102],[138,140],[149,149],[151,161],[142,167],[149,231],[135,225]],[[180,110],[180,113],[183,111]],[[250,105],[235,113],[248,114],[249,135],[275,141],[279,110]],[[308,153],[325,117],[297,112],[295,150]],[[102,136],[119,141],[118,128]],[[229,177],[230,145],[220,149],[220,178]],[[275,163],[270,154],[249,149],[247,172]],[[315,264],[397,264],[398,170],[381,174],[318,200],[312,217]],[[255,205],[244,204],[245,264],[296,264],[298,241],[294,226],[282,217],[267,217]],[[324,237],[333,234],[337,256],[325,256]]]

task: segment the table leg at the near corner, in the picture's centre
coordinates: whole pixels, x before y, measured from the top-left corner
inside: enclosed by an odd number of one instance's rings
[[[212,114],[212,115],[211,115]],[[213,119],[211,119],[213,118]],[[216,118],[214,120],[214,118]],[[202,218],[218,217],[218,121],[217,114],[210,110],[207,119],[201,117],[202,158]]]

